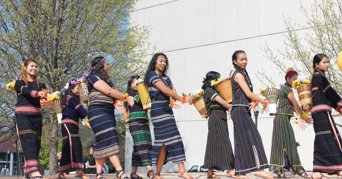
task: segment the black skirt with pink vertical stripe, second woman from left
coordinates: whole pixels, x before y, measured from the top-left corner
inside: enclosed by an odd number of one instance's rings
[[[63,120],[62,120],[63,122]],[[75,121],[76,123],[76,121]],[[78,123],[77,123],[78,124]],[[60,161],[59,173],[82,170],[82,143],[78,135],[77,124],[62,124],[62,156]]]

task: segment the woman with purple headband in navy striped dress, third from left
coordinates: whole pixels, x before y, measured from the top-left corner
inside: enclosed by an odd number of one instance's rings
[[[107,75],[109,65],[104,57],[95,57],[91,66],[88,77],[88,119],[95,134],[96,179],[105,179],[101,172],[106,157],[117,170],[117,177],[128,179],[119,161],[119,138],[114,115],[114,101],[116,101],[115,99],[126,99],[132,106],[134,98],[115,89]],[[124,113],[126,110],[120,104],[117,103],[116,106],[121,113]]]

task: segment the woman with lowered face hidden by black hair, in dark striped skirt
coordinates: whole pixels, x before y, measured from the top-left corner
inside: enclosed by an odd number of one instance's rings
[[[207,178],[220,178],[214,174],[214,169],[227,170],[227,177],[236,178],[234,176],[234,153],[229,139],[226,113],[227,108],[232,109],[232,105],[222,98],[214,86],[211,86],[211,80],[216,81],[220,77],[218,72],[208,72],[202,86],[202,89],[205,90],[203,98],[210,114],[203,168],[209,169]]]

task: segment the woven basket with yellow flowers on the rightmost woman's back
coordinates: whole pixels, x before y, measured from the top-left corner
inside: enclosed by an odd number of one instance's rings
[[[298,98],[300,101],[300,104],[302,106],[302,110],[305,113],[308,113],[311,111],[311,91],[310,91],[310,85],[303,84],[299,85],[297,87],[298,92]]]

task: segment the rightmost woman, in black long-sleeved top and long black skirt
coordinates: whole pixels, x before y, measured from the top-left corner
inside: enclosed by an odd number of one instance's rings
[[[311,79],[312,108],[314,121],[314,161],[311,178],[327,179],[321,173],[337,174],[342,177],[342,140],[331,116],[331,108],[341,112],[342,99],[330,86],[325,72],[329,69],[329,59],[324,54],[316,54]]]

